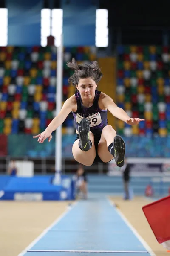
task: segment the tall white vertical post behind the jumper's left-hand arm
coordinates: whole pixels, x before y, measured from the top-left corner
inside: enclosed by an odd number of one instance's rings
[[[57,84],[56,84],[56,115],[62,108],[62,76],[63,76],[63,40],[57,47]],[[55,178],[54,183],[61,183],[62,171],[62,125],[56,130],[56,151],[55,151]]]

